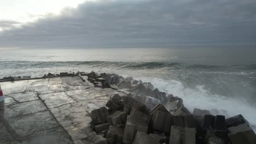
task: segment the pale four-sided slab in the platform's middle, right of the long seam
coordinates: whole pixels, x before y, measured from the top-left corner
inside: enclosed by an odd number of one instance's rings
[[[69,97],[65,92],[40,94],[39,97],[49,109],[75,102],[75,100]]]

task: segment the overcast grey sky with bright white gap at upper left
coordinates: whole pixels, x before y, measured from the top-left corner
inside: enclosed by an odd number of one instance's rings
[[[0,47],[251,44],[255,0],[0,0]]]

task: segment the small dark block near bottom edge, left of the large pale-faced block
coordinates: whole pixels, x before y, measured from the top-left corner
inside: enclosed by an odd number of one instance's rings
[[[110,138],[110,137],[114,139],[114,143],[123,143],[124,128],[119,128],[111,125],[109,127],[106,138]]]

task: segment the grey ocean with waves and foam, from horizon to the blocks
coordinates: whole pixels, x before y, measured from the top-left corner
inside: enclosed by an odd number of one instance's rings
[[[255,131],[256,49],[150,47],[0,49],[0,77],[95,71],[152,82],[194,108],[242,114]]]

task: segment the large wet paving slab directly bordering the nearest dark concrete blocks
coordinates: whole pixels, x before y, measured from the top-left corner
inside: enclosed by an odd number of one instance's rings
[[[89,106],[90,103],[96,104],[97,107],[106,104],[106,101],[81,101],[50,109],[57,121],[72,137],[72,140],[86,139],[88,136],[94,135],[94,131],[90,128],[91,117],[89,115],[89,111],[94,108]]]

